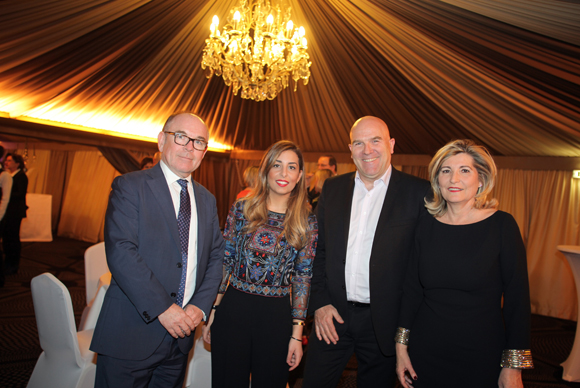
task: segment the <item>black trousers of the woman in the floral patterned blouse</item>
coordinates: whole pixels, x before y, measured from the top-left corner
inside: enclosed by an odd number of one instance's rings
[[[292,334],[290,298],[228,287],[211,326],[213,388],[284,388]]]

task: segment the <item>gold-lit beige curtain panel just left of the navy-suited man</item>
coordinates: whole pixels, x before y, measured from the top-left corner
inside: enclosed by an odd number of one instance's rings
[[[119,173],[97,151],[77,151],[62,204],[58,235],[103,240],[111,183]]]

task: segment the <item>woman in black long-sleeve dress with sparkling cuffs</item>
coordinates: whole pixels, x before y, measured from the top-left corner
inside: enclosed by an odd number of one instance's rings
[[[434,197],[396,336],[404,387],[521,388],[521,369],[533,367],[526,251],[514,218],[486,200],[496,175],[471,140],[448,143],[429,164]]]

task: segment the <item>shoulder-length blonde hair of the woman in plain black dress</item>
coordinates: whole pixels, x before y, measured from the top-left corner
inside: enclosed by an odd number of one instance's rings
[[[473,158],[473,166],[477,170],[477,176],[481,182],[481,187],[475,195],[474,207],[476,209],[497,208],[497,199],[487,200],[487,196],[495,185],[495,177],[497,176],[497,167],[493,158],[485,147],[475,144],[473,140],[454,140],[437,151],[431,163],[429,163],[429,180],[433,189],[433,200],[429,201],[425,198],[425,207],[434,217],[441,217],[447,212],[447,202],[443,198],[441,187],[439,186],[441,167],[447,159],[462,153]]]

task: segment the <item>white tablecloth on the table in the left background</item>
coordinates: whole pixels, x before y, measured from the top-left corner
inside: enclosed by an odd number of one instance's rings
[[[26,194],[28,210],[20,226],[21,241],[52,241],[52,195]]]

